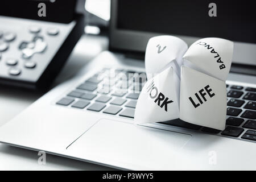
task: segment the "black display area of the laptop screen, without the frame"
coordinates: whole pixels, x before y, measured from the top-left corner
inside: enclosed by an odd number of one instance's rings
[[[254,4],[232,0],[119,0],[117,28],[256,43]]]

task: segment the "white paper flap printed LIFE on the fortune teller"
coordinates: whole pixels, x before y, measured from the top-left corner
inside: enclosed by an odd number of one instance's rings
[[[180,119],[195,125],[224,130],[226,124],[225,82],[182,66]]]

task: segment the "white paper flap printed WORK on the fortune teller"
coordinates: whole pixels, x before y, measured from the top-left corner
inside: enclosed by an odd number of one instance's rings
[[[173,68],[151,78],[139,95],[134,121],[135,123],[153,123],[179,118],[179,78]]]

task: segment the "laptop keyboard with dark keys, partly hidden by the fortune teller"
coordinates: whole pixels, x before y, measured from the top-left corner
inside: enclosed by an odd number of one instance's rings
[[[139,93],[145,83],[144,72],[104,68],[56,104],[134,118]],[[241,85],[226,85],[226,88],[228,107],[224,131],[193,125],[180,119],[159,123],[256,143],[256,88],[244,88]]]

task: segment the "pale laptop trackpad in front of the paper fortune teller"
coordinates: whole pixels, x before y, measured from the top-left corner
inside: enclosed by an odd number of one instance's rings
[[[111,166],[170,168],[190,138],[188,134],[101,119],[67,150],[77,158]]]

